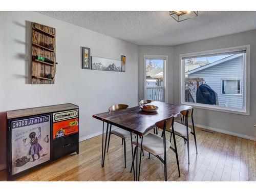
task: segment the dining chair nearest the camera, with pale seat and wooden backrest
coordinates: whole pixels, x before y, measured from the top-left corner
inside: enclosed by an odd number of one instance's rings
[[[165,139],[165,130],[170,129],[171,127],[173,129],[173,123],[174,123],[173,116],[155,123],[156,126],[159,127],[159,129],[163,130],[163,138],[160,137],[159,135],[156,135],[153,133],[149,133],[149,134],[145,135],[144,137],[141,137],[140,139],[137,138],[138,139],[138,147],[140,147],[141,150],[145,150],[146,152],[153,154],[164,164],[164,180],[165,181],[167,181],[166,152],[168,151],[169,148],[171,148],[173,151],[176,151],[177,165],[178,165],[178,171],[179,171],[179,177],[180,177],[180,167],[179,167],[177,150],[174,150],[174,148],[172,148],[172,146],[170,146],[170,142]],[[175,140],[175,135],[174,135],[174,140]],[[133,144],[136,145],[136,142],[137,141],[133,141]],[[177,148],[176,144],[175,144],[175,148]],[[134,159],[135,159],[136,152],[138,153],[137,145],[135,146],[135,150],[134,150],[134,154],[133,154],[133,162],[132,162],[132,167],[131,167],[130,172],[132,172],[132,169],[134,168]],[[163,158],[160,157],[161,155],[163,155]],[[140,176],[140,165],[141,165],[141,152],[140,152],[138,178]]]

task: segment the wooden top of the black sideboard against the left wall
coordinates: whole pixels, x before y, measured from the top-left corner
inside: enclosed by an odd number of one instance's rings
[[[50,105],[50,106],[40,106],[38,108],[13,110],[13,111],[7,111],[6,113],[7,113],[7,119],[13,119],[18,117],[26,117],[31,115],[53,113],[53,112],[67,111],[67,110],[73,110],[73,109],[78,109],[78,106],[72,103],[66,103],[66,104],[56,104],[56,105]]]

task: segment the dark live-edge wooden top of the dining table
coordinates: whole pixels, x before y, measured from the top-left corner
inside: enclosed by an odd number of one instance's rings
[[[153,101],[152,104],[159,108],[155,113],[143,112],[139,106],[135,106],[120,111],[95,114],[93,117],[143,136],[157,121],[166,119],[172,115],[178,115],[180,111],[191,108],[188,105],[175,105],[160,101]]]

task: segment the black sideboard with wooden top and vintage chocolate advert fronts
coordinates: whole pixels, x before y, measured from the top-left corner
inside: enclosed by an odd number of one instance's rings
[[[79,107],[67,103],[7,112],[8,180],[79,153]]]

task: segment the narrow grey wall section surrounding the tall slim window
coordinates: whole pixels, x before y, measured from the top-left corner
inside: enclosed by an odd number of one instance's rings
[[[168,102],[173,103],[174,88],[173,82],[173,47],[170,46],[139,46],[138,48],[138,101],[143,99],[143,63],[144,55],[161,55],[168,56],[167,62],[167,88],[168,88]]]

